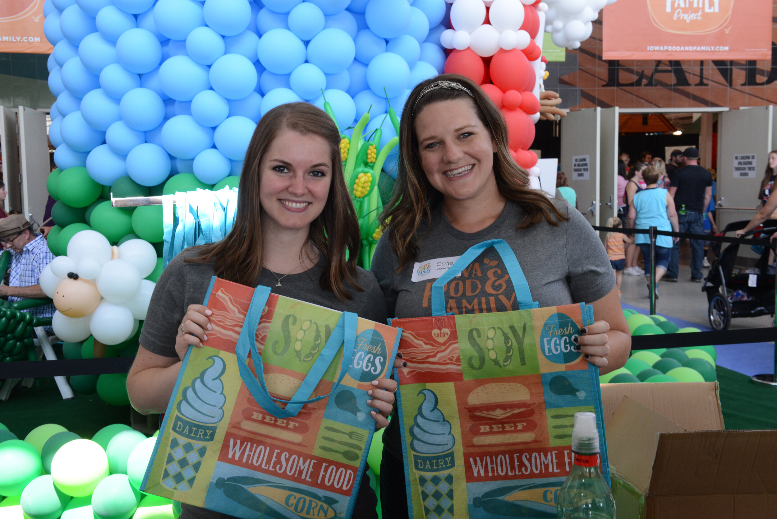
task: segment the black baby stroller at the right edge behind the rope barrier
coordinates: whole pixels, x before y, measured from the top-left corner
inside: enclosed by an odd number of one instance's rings
[[[723,234],[747,226],[748,220],[734,221]],[[762,233],[764,238],[777,232],[777,220],[767,220],[763,228],[747,232],[744,237]],[[774,247],[774,242],[771,242]],[[727,329],[733,317],[758,317],[775,313],[775,273],[768,264],[770,247],[763,247],[754,266],[737,266],[739,243],[723,249],[709,268],[702,291],[707,293],[709,325],[716,330]]]

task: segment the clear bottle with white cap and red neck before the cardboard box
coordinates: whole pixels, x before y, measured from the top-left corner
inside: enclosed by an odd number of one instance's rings
[[[599,471],[599,434],[594,413],[575,413],[573,467],[559,490],[559,519],[615,519],[615,499]]]

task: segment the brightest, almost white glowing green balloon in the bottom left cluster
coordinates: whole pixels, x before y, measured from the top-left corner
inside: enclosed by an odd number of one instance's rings
[[[68,496],[89,496],[107,475],[108,457],[91,440],[68,441],[51,460],[54,485]]]

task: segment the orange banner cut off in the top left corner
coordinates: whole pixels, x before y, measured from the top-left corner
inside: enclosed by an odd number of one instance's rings
[[[0,52],[51,54],[44,36],[43,0],[0,2]]]

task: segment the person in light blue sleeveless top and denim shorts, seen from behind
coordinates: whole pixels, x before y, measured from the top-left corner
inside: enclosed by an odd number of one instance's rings
[[[642,175],[647,187],[634,195],[634,203],[629,208],[629,227],[638,229],[655,227],[659,231],[678,232],[678,214],[674,210],[674,200],[667,190],[658,187],[658,170],[651,165],[644,169]],[[656,237],[656,284],[664,277],[669,266],[673,241],[676,242],[679,239],[664,235]],[[650,237],[646,234],[637,234],[634,235],[634,242],[639,249],[642,249],[647,289],[650,291]],[[656,289],[656,298],[658,298],[658,289]]]

